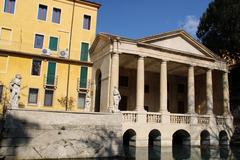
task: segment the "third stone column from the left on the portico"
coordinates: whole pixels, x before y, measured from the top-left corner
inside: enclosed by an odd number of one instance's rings
[[[167,110],[167,62],[161,61],[160,64],[160,112]]]

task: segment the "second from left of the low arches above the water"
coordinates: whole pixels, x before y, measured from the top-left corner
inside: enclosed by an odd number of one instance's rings
[[[148,135],[148,146],[161,146],[161,132],[153,129]]]

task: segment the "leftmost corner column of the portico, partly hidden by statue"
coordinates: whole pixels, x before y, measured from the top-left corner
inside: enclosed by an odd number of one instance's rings
[[[118,89],[119,79],[119,53],[112,54],[112,65],[111,65],[111,90],[110,90],[110,108],[113,109],[113,89],[116,86]]]

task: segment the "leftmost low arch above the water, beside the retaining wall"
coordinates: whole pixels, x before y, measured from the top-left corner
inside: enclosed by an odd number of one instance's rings
[[[135,146],[136,145],[136,132],[133,129],[128,129],[123,134],[123,145],[124,146]]]

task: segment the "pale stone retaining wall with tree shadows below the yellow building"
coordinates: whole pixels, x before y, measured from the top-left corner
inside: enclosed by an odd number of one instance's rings
[[[14,159],[122,154],[121,114],[9,110],[0,155]]]

